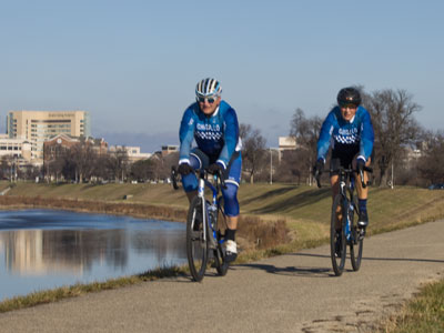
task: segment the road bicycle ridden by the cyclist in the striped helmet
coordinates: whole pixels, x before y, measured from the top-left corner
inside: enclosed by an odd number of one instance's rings
[[[210,256],[218,274],[226,274],[229,263],[225,261],[225,242],[222,229],[226,229],[226,216],[223,210],[223,196],[219,195],[225,182],[220,173],[210,174],[208,170],[199,174],[198,195],[191,201],[186,216],[186,258],[191,275],[196,282],[202,281]],[[212,181],[210,181],[212,179]],[[171,169],[172,185],[178,185],[178,171]],[[211,201],[205,199],[205,189],[210,189]]]

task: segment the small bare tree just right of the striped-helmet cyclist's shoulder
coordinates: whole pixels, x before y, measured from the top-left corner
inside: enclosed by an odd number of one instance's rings
[[[254,174],[265,158],[266,140],[260,130],[243,123],[239,127],[239,135],[242,138],[243,169],[249,172],[250,182],[254,183]]]

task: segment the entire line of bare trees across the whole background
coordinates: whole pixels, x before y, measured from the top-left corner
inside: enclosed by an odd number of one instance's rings
[[[362,104],[369,110],[375,131],[374,173],[372,181],[379,186],[418,185],[444,183],[444,132],[428,131],[415,119],[421,107],[405,90],[376,90],[362,94]],[[333,104],[332,104],[333,108]],[[287,135],[295,139],[296,148],[278,151],[266,148],[266,140],[259,129],[240,124],[243,164],[242,178],[248,182],[313,182],[311,171],[316,158],[316,143],[325,113],[307,117],[296,108]],[[74,145],[58,148],[42,168],[18,168],[10,157],[0,160],[2,179],[30,179],[46,181],[108,182],[108,181],[164,181],[179,153],[154,153],[148,160],[131,162],[124,148],[98,152],[87,140]],[[49,152],[43,152],[48,154]],[[329,163],[329,162],[327,162]],[[326,180],[325,180],[326,181]]]

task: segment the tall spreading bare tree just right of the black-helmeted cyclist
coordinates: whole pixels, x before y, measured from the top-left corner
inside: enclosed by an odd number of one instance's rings
[[[379,184],[386,181],[387,168],[400,159],[403,145],[418,137],[421,127],[414,113],[421,107],[405,90],[385,89],[373,92],[364,100],[364,107],[372,115],[375,131],[376,161],[380,168]]]

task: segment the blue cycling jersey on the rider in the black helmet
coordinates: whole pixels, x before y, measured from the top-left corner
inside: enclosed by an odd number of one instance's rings
[[[320,139],[317,141],[317,159],[323,159],[333,150],[359,150],[359,158],[367,161],[372,154],[374,142],[373,124],[370,113],[363,107],[359,107],[356,114],[349,122],[342,118],[340,107],[333,108],[324,120]]]

